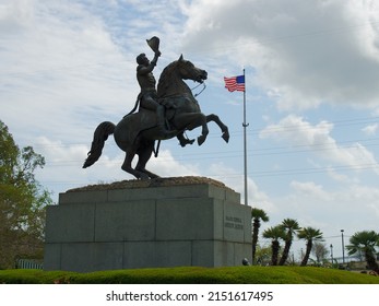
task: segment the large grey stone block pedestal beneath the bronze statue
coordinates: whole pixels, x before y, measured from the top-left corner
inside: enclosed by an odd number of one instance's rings
[[[47,208],[45,270],[241,266],[251,258],[251,208],[239,193],[209,179],[163,183],[60,193]]]

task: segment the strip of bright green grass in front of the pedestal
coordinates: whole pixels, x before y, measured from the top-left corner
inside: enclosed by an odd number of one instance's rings
[[[0,284],[379,284],[379,278],[313,267],[156,268],[76,273],[0,270]]]

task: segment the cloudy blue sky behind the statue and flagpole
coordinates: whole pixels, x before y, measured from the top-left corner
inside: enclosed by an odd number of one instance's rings
[[[378,231],[378,13],[374,0],[0,0],[0,119],[46,157],[37,178],[55,200],[132,179],[111,138],[94,166],[81,166],[96,126],[132,108],[135,56],[152,58],[145,39],[156,35],[156,78],[181,54],[205,69],[198,101],[230,141],[210,123],[202,146],[165,141],[149,168],[221,180],[244,203],[242,93],[226,91],[223,76],[245,68],[248,202],[270,215],[262,229],[296,219],[323,232],[339,257],[340,229],[346,242]]]

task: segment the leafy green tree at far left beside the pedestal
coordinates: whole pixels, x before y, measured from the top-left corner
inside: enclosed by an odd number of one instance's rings
[[[21,256],[43,252],[45,205],[50,195],[35,179],[45,160],[32,146],[19,149],[0,120],[0,269]]]

